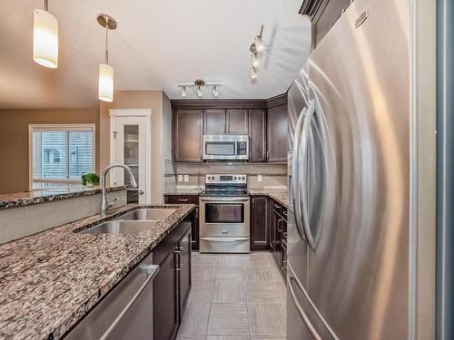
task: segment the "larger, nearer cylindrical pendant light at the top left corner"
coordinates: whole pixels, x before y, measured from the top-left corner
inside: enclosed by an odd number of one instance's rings
[[[48,12],[49,5],[44,0],[44,10],[35,9],[33,15],[33,60],[45,67],[58,67],[58,20]]]

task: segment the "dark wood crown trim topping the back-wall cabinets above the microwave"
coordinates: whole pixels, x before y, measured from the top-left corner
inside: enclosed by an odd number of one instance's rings
[[[266,109],[263,99],[175,99],[174,109]]]

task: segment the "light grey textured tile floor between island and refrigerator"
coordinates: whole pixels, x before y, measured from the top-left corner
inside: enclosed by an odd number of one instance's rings
[[[192,253],[177,340],[284,340],[286,287],[270,252]]]

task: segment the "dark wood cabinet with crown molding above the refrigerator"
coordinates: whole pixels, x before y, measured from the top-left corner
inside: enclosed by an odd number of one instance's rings
[[[320,44],[321,39],[330,31],[350,5],[350,0],[304,0],[300,8],[301,15],[309,15],[312,22],[312,49]]]

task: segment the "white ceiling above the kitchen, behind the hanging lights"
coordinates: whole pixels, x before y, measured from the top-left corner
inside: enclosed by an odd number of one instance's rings
[[[33,62],[33,9],[44,0],[2,0],[0,108],[95,107],[104,29],[114,17],[109,50],[115,90],[163,90],[177,83],[220,81],[219,98],[270,98],[285,92],[309,55],[311,24],[301,0],[50,0],[59,21],[58,69]],[[249,45],[264,24],[267,49],[255,82]],[[196,98],[188,91],[186,98]],[[203,98],[212,98],[209,89]]]

